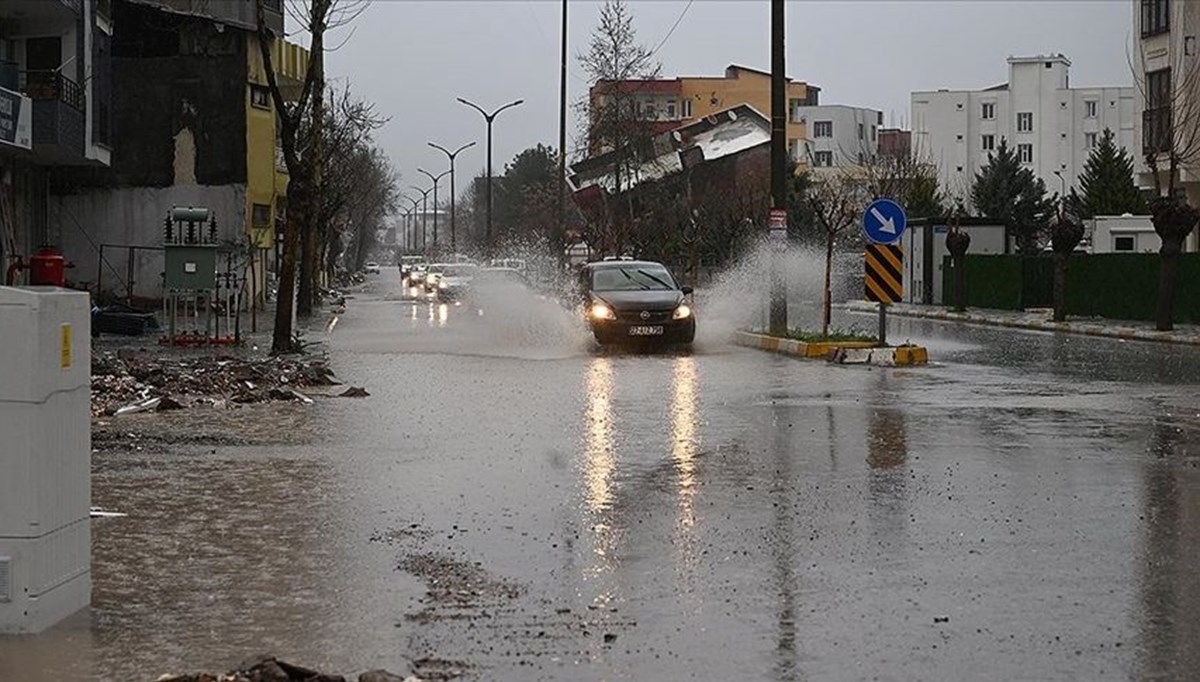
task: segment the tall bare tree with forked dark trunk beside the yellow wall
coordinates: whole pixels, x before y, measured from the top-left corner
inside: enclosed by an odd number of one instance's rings
[[[271,339],[272,353],[294,351],[292,312],[295,303],[296,258],[301,240],[308,239],[313,227],[311,197],[314,186],[313,167],[305,158],[302,128],[306,116],[312,115],[314,98],[324,96],[325,35],[329,30],[347,25],[366,7],[364,0],[290,0],[284,6],[288,17],[310,36],[310,65],[299,95],[288,97],[280,84],[274,62],[272,46],[283,40],[274,35],[266,20],[265,0],[256,1],[258,48],[263,59],[263,71],[268,89],[275,103],[280,127],[280,146],[288,169],[288,214],[283,228],[283,251],[280,262],[280,288],[276,297],[275,330]],[[323,115],[316,116],[322,120]],[[319,178],[319,166],[317,167]],[[310,297],[311,300],[311,297]]]

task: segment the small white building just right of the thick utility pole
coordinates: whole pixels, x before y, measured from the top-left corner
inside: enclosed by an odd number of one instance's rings
[[[803,145],[792,140],[788,154],[797,163],[846,167],[875,158],[880,149],[883,112],[846,104],[796,106],[791,122],[804,124]]]

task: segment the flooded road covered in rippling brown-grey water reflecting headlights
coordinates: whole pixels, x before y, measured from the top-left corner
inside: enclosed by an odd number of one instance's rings
[[[0,639],[0,680],[1200,670],[1200,349],[894,321],[935,365],[600,352],[553,303],[390,280],[330,336],[371,397],[306,442],[95,455],[128,516],[95,521],[94,608]]]

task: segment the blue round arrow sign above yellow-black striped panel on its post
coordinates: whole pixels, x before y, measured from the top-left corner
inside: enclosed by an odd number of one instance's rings
[[[908,225],[904,208],[892,199],[876,199],[863,211],[866,245],[865,297],[880,304],[880,345],[888,342],[888,304],[904,298],[904,251],[899,241]]]

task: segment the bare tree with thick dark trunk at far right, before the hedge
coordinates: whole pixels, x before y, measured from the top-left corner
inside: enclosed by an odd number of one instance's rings
[[[1180,253],[1200,222],[1196,207],[1180,197],[1181,170],[1200,167],[1200,64],[1182,44],[1170,46],[1165,58],[1152,59],[1142,42],[1130,58],[1130,68],[1145,103],[1142,151],[1154,184],[1150,213],[1163,241],[1154,323],[1169,331],[1175,325]]]

